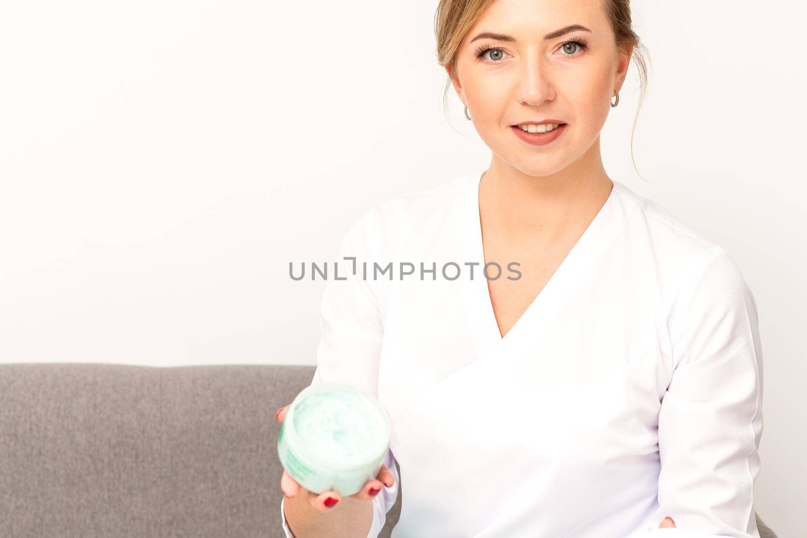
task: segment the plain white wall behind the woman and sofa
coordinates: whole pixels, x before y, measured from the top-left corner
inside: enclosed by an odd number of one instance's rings
[[[436,0],[0,2],[0,361],[313,365],[370,206],[484,167],[435,60]],[[795,7],[798,6],[798,7]],[[634,2],[610,177],[723,245],[759,307],[755,506],[803,536],[804,47],[796,2]]]

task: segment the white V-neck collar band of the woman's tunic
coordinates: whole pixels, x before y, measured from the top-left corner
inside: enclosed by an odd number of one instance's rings
[[[621,223],[616,219],[615,203],[620,184],[612,180],[611,193],[583,231],[583,235],[521,317],[504,336],[501,336],[493,312],[491,295],[487,289],[487,280],[482,272],[485,261],[479,214],[479,184],[483,173],[485,170],[468,174],[462,190],[452,203],[457,263],[463,268],[460,280],[462,280],[464,310],[480,358],[492,354],[504,345],[511,345],[525,333],[534,338],[546,330],[558,310],[566,304],[579,282],[585,277],[586,271],[595,265],[611,244],[617,231],[621,229]],[[470,279],[470,270],[466,270],[468,266],[465,264],[472,262],[476,262],[477,265],[474,265],[473,279]],[[502,267],[502,277],[506,269],[506,266]]]

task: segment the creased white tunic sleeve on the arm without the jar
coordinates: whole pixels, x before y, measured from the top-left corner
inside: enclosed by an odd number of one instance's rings
[[[673,361],[659,411],[659,510],[632,536],[759,538],[753,490],[763,357],[756,302],[718,245],[680,282],[667,313]],[[675,528],[659,529],[667,516]]]

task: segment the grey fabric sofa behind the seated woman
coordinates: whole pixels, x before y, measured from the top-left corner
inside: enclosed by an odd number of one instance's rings
[[[274,412],[313,373],[0,365],[0,536],[282,537]]]

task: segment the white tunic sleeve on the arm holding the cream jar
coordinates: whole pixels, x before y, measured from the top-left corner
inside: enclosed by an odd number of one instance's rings
[[[320,305],[320,344],[316,349],[316,370],[312,385],[320,382],[345,382],[366,390],[378,398],[378,361],[381,356],[383,323],[378,310],[378,297],[371,280],[375,255],[375,210],[370,210],[353,224],[342,240],[338,277],[328,264],[328,282]],[[355,257],[345,260],[344,257]],[[362,264],[366,262],[367,278]],[[355,273],[353,271],[355,269]],[[373,524],[367,538],[377,538],[387,520],[387,512],[398,497],[398,469],[391,450],[384,465],[395,475],[391,487],[383,486],[372,500]],[[281,511],[283,501],[281,501]],[[282,515],[286,538],[294,538]]]

